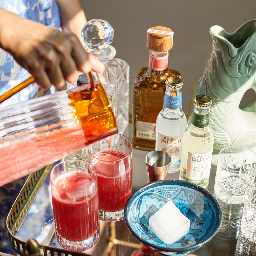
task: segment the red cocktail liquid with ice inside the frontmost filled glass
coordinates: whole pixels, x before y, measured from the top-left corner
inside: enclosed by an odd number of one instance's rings
[[[69,241],[86,240],[99,228],[99,201],[93,180],[87,173],[72,171],[60,175],[51,187],[55,230]]]

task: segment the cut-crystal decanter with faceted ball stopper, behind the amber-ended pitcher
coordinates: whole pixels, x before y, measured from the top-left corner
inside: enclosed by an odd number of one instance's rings
[[[129,121],[129,65],[114,58],[116,50],[110,45],[113,38],[114,30],[105,20],[90,20],[82,29],[86,52],[105,64],[103,73],[92,73],[106,90],[117,119],[118,133],[123,134]]]

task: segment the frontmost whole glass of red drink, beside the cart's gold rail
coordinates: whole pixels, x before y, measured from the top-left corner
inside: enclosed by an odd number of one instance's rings
[[[50,173],[55,235],[61,247],[84,251],[100,237],[98,179],[92,164],[71,159]]]

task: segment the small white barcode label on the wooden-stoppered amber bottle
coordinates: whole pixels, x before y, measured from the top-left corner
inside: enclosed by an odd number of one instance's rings
[[[156,140],[156,124],[136,121],[136,137],[140,139]]]

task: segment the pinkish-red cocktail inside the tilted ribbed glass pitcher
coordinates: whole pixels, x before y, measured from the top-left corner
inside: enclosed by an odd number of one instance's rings
[[[24,140],[21,138],[15,145],[10,143],[10,146],[0,148],[2,160],[0,186],[61,159],[63,152],[67,156],[83,147],[85,145],[83,129],[81,125],[65,126],[71,122],[61,121],[58,125],[51,124],[43,127],[42,131],[38,129],[38,134],[35,135],[33,132],[24,132],[20,135],[20,137],[24,136]],[[61,128],[56,129],[58,127]],[[17,134],[9,136],[12,141]],[[29,140],[28,136],[30,136]]]

